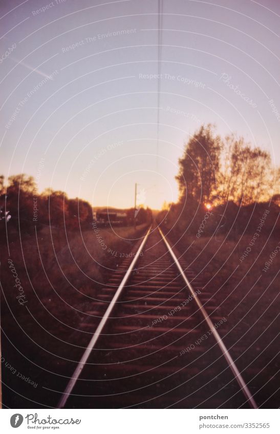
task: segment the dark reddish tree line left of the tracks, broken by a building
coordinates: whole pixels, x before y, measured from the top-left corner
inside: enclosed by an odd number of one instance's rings
[[[7,227],[17,231],[33,232],[44,225],[66,227],[67,230],[91,229],[93,222],[92,205],[78,197],[69,198],[63,191],[45,189],[38,192],[37,184],[32,176],[13,175],[8,178],[0,176],[0,218],[2,227],[5,220]],[[127,211],[127,224],[133,224],[134,208]],[[131,218],[130,218],[131,217]],[[140,208],[137,224],[150,219],[150,210]]]

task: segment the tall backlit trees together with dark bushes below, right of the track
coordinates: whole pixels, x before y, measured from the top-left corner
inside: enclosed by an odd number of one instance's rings
[[[202,125],[179,158],[179,200],[165,203],[157,220],[169,230],[196,234],[205,218],[201,235],[230,232],[235,237],[253,229],[269,207],[269,230],[279,213],[279,178],[268,151],[235,134],[222,138],[213,125]]]

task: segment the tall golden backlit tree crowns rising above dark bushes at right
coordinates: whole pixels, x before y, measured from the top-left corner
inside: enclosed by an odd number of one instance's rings
[[[180,201],[206,203],[218,197],[238,206],[277,200],[279,168],[269,152],[231,134],[222,139],[211,124],[202,125],[179,159]]]

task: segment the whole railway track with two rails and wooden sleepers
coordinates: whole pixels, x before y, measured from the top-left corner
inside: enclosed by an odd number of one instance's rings
[[[194,278],[150,227],[87,312],[94,334],[58,407],[256,408]]]

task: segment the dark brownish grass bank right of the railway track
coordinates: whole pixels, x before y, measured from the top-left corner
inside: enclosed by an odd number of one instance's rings
[[[202,298],[203,292],[211,294],[205,296],[206,311],[210,316],[227,318],[222,337],[245,380],[250,382],[251,391],[256,393],[257,402],[272,408],[279,404],[274,394],[279,370],[276,342],[280,252],[276,247],[280,244],[274,237],[261,233],[250,246],[250,235],[236,240],[184,236],[177,244],[189,268],[202,278]],[[178,235],[170,238],[175,244]],[[240,260],[248,246],[251,251]],[[273,261],[264,271],[274,251]]]

